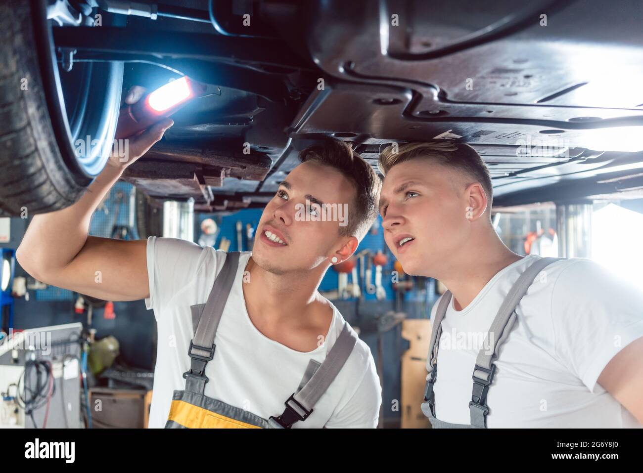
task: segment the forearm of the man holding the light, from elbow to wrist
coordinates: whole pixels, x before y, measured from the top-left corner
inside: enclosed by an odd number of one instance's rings
[[[122,172],[107,164],[78,202],[33,217],[16,253],[25,271],[32,276],[51,274],[73,260],[87,241],[89,223],[96,207]]]

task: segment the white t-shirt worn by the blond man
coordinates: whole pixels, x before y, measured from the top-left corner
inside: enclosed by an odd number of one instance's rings
[[[487,348],[480,341],[513,283],[539,258],[502,269],[464,310],[451,298],[437,355],[439,420],[470,424],[471,375]],[[516,315],[494,362],[487,427],[642,427],[597,379],[619,350],[643,337],[643,292],[592,260],[572,258],[536,276]]]

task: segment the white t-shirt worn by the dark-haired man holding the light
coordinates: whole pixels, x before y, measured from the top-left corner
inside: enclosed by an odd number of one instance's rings
[[[204,394],[267,419],[283,413],[284,402],[298,388],[309,361],[325,359],[344,319],[331,304],[331,328],[324,343],[312,352],[297,352],[266,337],[250,320],[243,296],[250,255],[249,251],[240,254],[237,278],[215,335],[214,358],[206,366],[209,381]],[[150,297],[145,306],[154,309],[158,324],[150,428],[165,427],[174,390],[185,389],[183,373],[190,369],[188,348],[194,335],[190,306],[206,303],[225,258],[224,251],[177,238],[147,239]],[[375,362],[368,345],[358,339],[312,414],[293,428],[374,428],[380,405]]]

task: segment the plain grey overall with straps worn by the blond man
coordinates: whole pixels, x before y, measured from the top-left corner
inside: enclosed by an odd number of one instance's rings
[[[440,344],[440,335],[442,335],[442,319],[446,314],[447,307],[451,303],[451,292],[447,290],[444,292],[438,308],[435,312],[435,320],[433,321],[433,330],[431,332],[431,343],[429,345],[429,359],[427,369],[426,385],[424,387],[424,402],[421,405],[422,412],[426,415],[431,426],[434,429],[486,429],[487,428],[487,414],[489,414],[489,406],[487,406],[487,393],[489,386],[493,382],[496,365],[493,361],[498,357],[498,350],[500,346],[509,336],[511,328],[516,321],[516,307],[520,303],[520,299],[527,293],[530,285],[532,285],[534,278],[540,274],[545,267],[553,262],[563,258],[541,258],[532,263],[520,275],[516,283],[511,287],[507,297],[503,301],[498,314],[489,328],[489,332],[485,337],[483,348],[478,353],[476,358],[476,365],[473,369],[473,392],[471,393],[471,402],[469,402],[469,415],[471,416],[470,424],[451,424],[439,420],[435,416],[435,395],[433,393],[433,386],[437,377],[437,355]],[[500,336],[498,336],[500,335]],[[493,339],[491,339],[493,337]],[[490,350],[485,350],[485,346],[490,346],[493,340],[493,352],[488,353]]]

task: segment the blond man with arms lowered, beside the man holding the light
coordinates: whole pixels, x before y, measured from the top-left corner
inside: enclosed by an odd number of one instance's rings
[[[431,311],[433,427],[640,427],[643,294],[592,260],[510,251],[468,145],[390,147],[379,165],[386,244],[449,289]]]

